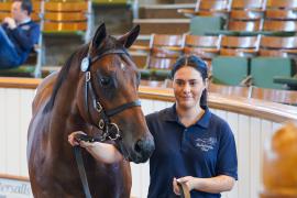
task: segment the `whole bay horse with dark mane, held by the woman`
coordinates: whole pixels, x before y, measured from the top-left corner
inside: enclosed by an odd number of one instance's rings
[[[138,25],[116,38],[101,24],[89,44],[78,48],[61,72],[37,87],[26,151],[34,197],[85,197],[74,151],[67,142],[74,131],[113,140],[110,143],[125,158],[105,164],[82,151],[91,196],[130,197],[129,162],[143,163],[154,151],[139,102],[140,74],[127,52],[139,32]]]

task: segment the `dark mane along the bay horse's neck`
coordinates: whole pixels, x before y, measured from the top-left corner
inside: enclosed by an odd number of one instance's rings
[[[69,69],[72,67],[72,63],[73,59],[76,56],[81,56],[87,54],[87,48],[88,45],[82,45],[80,48],[78,48],[76,52],[74,52],[70,57],[66,61],[66,63],[64,64],[64,66],[62,67],[62,69],[59,70],[59,74],[57,76],[57,80],[55,82],[55,86],[53,88],[53,94],[51,96],[50,101],[46,103],[45,108],[44,108],[44,112],[48,112],[53,109],[54,103],[55,103],[55,99],[58,92],[58,89],[61,88],[62,84],[65,81],[65,79],[67,78],[67,74],[69,73]]]

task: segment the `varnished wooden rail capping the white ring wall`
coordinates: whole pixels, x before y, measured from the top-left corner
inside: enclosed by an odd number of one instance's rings
[[[24,88],[35,89],[42,79],[0,77],[0,88]],[[155,88],[141,86],[140,98],[161,101],[175,101],[173,90],[168,88]],[[274,122],[297,121],[297,107],[286,106],[242,97],[224,97],[218,94],[209,94],[208,103],[210,108],[230,112],[268,119]]]

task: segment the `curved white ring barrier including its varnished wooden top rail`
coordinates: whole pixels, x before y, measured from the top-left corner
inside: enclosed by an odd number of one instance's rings
[[[26,130],[31,102],[40,79],[0,78],[0,174],[28,177]],[[172,106],[170,89],[140,87],[145,114]],[[297,121],[297,108],[261,100],[227,98],[211,94],[209,106],[234,132],[239,182],[223,198],[255,198],[261,188],[262,151],[265,140],[283,122]],[[150,183],[148,163],[132,166],[132,196],[145,198]],[[0,175],[1,178],[1,175]],[[0,191],[1,195],[1,191]]]

